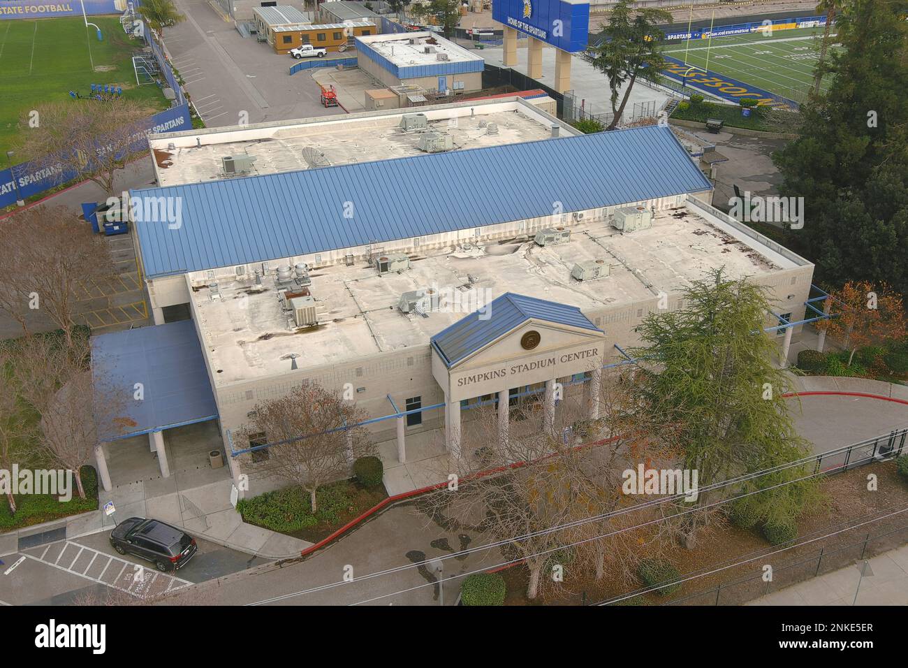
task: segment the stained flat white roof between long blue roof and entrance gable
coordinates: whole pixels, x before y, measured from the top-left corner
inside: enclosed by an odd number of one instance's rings
[[[759,276],[797,266],[722,221],[710,222],[688,205],[657,211],[649,229],[622,234],[605,221],[570,227],[568,244],[540,247],[526,236],[480,247],[410,254],[410,270],[378,274],[353,266],[310,268],[309,290],[320,324],[297,328],[281,309],[273,275],[219,281],[212,300],[202,280],[192,300],[218,386],[281,374],[291,354],[301,369],[348,363],[370,354],[419,347],[429,338],[506,292],[575,305],[587,314],[618,304],[676,294],[711,269]],[[772,259],[770,259],[772,258]],[[586,283],[571,278],[577,263],[604,259],[610,275]],[[194,274],[202,276],[202,273]],[[435,287],[442,308],[428,317],[404,314],[400,295]]]

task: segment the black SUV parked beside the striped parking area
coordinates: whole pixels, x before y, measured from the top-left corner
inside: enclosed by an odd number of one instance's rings
[[[116,525],[111,544],[118,553],[133,553],[154,563],[159,571],[183,568],[198,550],[195,539],[175,526],[130,517]]]

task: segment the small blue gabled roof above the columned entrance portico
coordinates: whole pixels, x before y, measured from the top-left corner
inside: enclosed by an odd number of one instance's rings
[[[480,311],[471,313],[431,338],[432,347],[448,368],[530,319],[602,332],[577,306],[524,294],[502,294],[486,304],[485,313],[489,314],[485,319]]]

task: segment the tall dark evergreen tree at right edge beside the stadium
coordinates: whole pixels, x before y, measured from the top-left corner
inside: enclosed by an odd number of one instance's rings
[[[908,23],[905,0],[853,0],[837,15],[829,90],[802,108],[800,136],[775,154],[783,194],[804,197],[788,243],[817,278],[908,294]]]

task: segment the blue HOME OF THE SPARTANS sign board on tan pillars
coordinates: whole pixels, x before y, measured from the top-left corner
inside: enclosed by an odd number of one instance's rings
[[[587,50],[589,0],[495,0],[492,18],[562,51]]]

